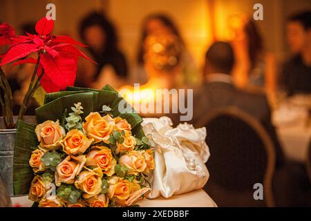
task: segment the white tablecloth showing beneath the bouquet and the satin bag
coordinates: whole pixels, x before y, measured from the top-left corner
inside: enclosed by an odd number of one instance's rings
[[[32,201],[28,196],[11,198],[12,206],[30,207]],[[171,198],[144,199],[138,202],[142,207],[216,207],[216,203],[202,189],[173,195]]]

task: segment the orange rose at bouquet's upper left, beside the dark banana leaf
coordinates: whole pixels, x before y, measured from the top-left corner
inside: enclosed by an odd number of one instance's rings
[[[59,125],[59,122],[47,120],[42,124],[38,124],[35,133],[40,142],[39,146],[48,150],[56,150],[61,146],[60,142],[64,137],[65,130]]]

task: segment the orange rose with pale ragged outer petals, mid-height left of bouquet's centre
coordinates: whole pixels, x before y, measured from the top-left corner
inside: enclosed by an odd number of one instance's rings
[[[79,155],[78,157],[67,156],[65,160],[56,166],[56,186],[60,186],[62,182],[73,184],[75,182],[75,177],[82,171],[85,162],[86,157],[84,155]]]

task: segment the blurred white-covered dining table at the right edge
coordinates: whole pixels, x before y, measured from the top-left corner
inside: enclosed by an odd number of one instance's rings
[[[296,96],[279,105],[272,113],[272,122],[285,157],[306,162],[311,142],[311,97]]]

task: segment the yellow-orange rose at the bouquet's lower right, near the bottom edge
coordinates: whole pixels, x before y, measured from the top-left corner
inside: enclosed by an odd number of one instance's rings
[[[124,180],[121,177],[113,176],[108,180],[109,183],[109,198],[117,198],[119,200],[126,200],[131,193],[131,186],[129,180]]]

